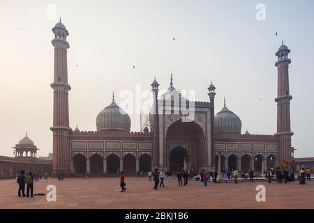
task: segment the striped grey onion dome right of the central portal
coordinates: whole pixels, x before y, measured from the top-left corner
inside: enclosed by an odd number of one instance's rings
[[[215,116],[215,133],[241,134],[241,119],[224,105]]]

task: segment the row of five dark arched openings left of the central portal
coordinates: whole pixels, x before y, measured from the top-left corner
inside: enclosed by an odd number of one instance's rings
[[[93,173],[93,174],[119,174],[124,170],[126,174],[135,174],[139,171],[151,171],[151,155],[144,153],[139,159],[135,155],[128,153],[121,160],[117,154],[110,154],[104,160],[102,155],[91,155],[89,160],[85,155],[78,153],[72,158],[73,173]]]

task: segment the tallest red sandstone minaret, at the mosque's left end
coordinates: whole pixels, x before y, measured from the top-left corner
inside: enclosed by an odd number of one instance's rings
[[[54,89],[54,114],[53,126],[50,128],[53,132],[53,162],[52,175],[56,176],[58,171],[63,171],[63,174],[70,174],[70,141],[68,117],[68,64],[67,64],[67,49],[70,47],[66,37],[68,30],[60,22],[52,29],[54,39],[54,82],[50,84]]]

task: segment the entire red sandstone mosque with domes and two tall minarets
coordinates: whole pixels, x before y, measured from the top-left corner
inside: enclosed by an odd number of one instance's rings
[[[52,176],[63,172],[65,176],[106,176],[124,170],[126,174],[139,171],[151,171],[154,167],[177,171],[186,167],[218,169],[218,152],[221,154],[221,166],[237,168],[241,171],[253,169],[264,172],[279,165],[294,169],[301,159],[292,157],[290,129],[289,64],[290,49],[281,45],[276,52],[278,68],[277,132],[276,134],[250,134],[247,130],[241,134],[241,119],[224,104],[215,116],[214,99],[216,87],[209,85],[209,102],[193,102],[193,121],[182,121],[184,115],[174,112],[174,100],[186,100],[177,91],[172,82],[167,92],[158,95],[158,82],[154,79],[151,91],[154,94],[154,106],[149,114],[149,128],[142,132],[130,132],[130,117],[116,102],[114,96],[110,105],[96,117],[94,132],[72,130],[69,125],[68,109],[68,66],[67,50],[70,47],[66,26],[61,21],[52,29],[54,39],[54,81],[50,85],[54,91],[53,125],[53,159],[42,163],[31,155],[31,159],[18,152],[15,158],[0,157],[2,178],[13,177],[19,169],[36,167],[45,164],[49,171],[52,165]],[[170,100],[170,107],[165,107]],[[180,108],[181,109],[181,108]],[[158,111],[162,111],[159,112]],[[158,114],[158,115],[157,115]],[[32,154],[36,153],[32,145]],[[18,146],[16,146],[18,147]],[[22,145],[23,147],[23,145]],[[25,147],[25,145],[24,145]],[[27,146],[26,146],[27,147]],[[21,161],[22,160],[22,161]],[[299,163],[299,161],[300,163]],[[306,158],[307,167],[314,168],[314,158]],[[17,166],[23,162],[25,165]],[[14,166],[14,168],[13,168]],[[2,168],[3,167],[3,168]],[[27,170],[27,169],[26,169]],[[295,169],[294,169],[295,170]],[[3,174],[4,171],[4,174]]]

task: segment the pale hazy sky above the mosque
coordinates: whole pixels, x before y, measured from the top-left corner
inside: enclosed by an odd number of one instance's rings
[[[265,21],[256,20],[257,3],[266,6]],[[154,76],[166,89],[172,71],[174,86],[195,89],[199,101],[209,100],[212,79],[216,113],[225,95],[227,107],[241,118],[242,132],[274,134],[275,53],[283,38],[292,60],[292,146],[296,157],[314,156],[312,0],[0,0],[0,6],[0,155],[13,156],[25,131],[39,155],[52,152],[56,6],[70,33],[72,128],[96,130],[96,116],[110,104],[112,91],[119,103],[121,91],[135,91],[136,84],[150,89]],[[131,118],[131,130],[139,130],[139,116]]]

